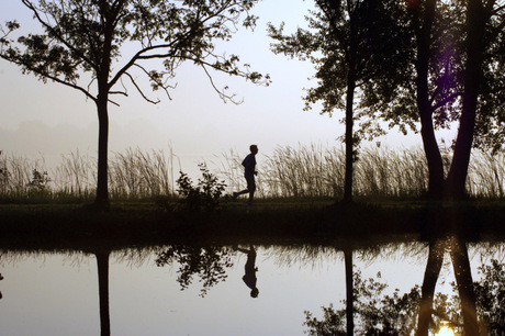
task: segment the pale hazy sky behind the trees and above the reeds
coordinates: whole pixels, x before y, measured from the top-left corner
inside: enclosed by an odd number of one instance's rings
[[[0,22],[16,19],[22,27],[37,25],[29,11],[13,0],[0,0]],[[169,100],[161,92],[147,92],[160,98],[154,105],[142,99],[134,88],[128,98],[117,98],[121,107],[110,105],[110,149],[127,147],[167,149],[184,161],[209,159],[229,149],[247,154],[249,144],[258,144],[260,154],[278,145],[323,143],[340,146],[344,134],[335,116],[319,115],[318,109],[303,111],[304,88],[315,86],[308,78],[313,65],[283,55],[274,55],[266,32],[268,22],[287,23],[287,32],[305,25],[304,15],[312,1],[265,0],[255,9],[259,16],[254,32],[240,30],[231,43],[222,44],[223,53],[238,54],[252,70],[270,74],[270,87],[257,87],[240,78],[215,76],[218,87],[228,86],[239,105],[223,103],[200,68],[186,64],[177,71],[177,88]],[[148,88],[148,87],[147,87]],[[85,96],[58,83],[44,85],[31,75],[0,59],[0,149],[27,155],[57,157],[79,148],[94,155],[98,137],[96,105]],[[404,137],[392,132],[378,141],[391,146],[419,144],[419,135]]]

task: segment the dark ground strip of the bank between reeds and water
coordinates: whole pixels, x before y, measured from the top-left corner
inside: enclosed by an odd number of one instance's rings
[[[283,240],[373,245],[459,234],[468,240],[505,238],[498,201],[430,203],[383,201],[341,204],[332,199],[269,199],[254,206],[228,202],[194,211],[171,203],[113,202],[108,212],[85,204],[0,205],[0,245],[133,246],[172,243],[234,244]]]

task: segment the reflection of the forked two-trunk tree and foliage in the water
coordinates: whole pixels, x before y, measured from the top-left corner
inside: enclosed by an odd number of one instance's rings
[[[456,283],[451,285],[458,295],[435,294],[446,251],[454,268]],[[356,325],[359,326],[356,333],[428,335],[428,332],[435,333],[444,323],[448,323],[459,334],[503,335],[505,268],[492,260],[491,266],[482,266],[479,271],[482,279],[473,282],[467,244],[456,237],[429,245],[423,287],[415,285],[408,293],[402,294],[395,290],[392,295],[384,295],[385,283],[373,278],[362,279],[360,271],[355,271],[352,311]],[[343,302],[346,303],[345,300]],[[323,320],[317,320],[311,312],[305,312],[304,325],[308,327],[308,335],[348,335],[346,309],[335,310],[329,305],[323,307]]]

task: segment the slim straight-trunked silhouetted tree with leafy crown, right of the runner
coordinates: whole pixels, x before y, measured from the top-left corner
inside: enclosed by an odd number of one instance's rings
[[[396,18],[384,15],[395,1],[379,0],[315,0],[318,11],[311,12],[310,30],[283,35],[269,25],[269,35],[278,43],[272,46],[276,54],[310,59],[316,66],[318,87],[308,90],[306,109],[322,101],[322,113],[332,114],[345,110],[346,177],[344,201],[352,201],[352,168],[357,159],[356,146],[359,137],[354,134],[355,97],[357,90],[374,80],[379,74],[390,71],[395,63],[391,53],[396,33]]]

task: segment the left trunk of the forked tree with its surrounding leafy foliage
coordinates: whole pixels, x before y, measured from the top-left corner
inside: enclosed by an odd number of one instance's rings
[[[447,3],[436,7],[437,0],[399,1],[394,12],[396,30],[395,71],[378,77],[368,85],[363,105],[372,105],[378,117],[399,126],[406,134],[418,131],[426,154],[429,180],[428,193],[442,194],[444,161],[435,130],[448,127],[454,121],[461,59],[459,23],[461,14]]]

